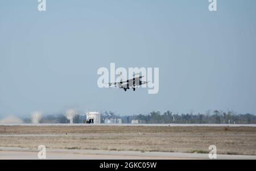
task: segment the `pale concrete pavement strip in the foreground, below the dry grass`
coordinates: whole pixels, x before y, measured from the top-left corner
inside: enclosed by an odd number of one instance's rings
[[[37,149],[0,147],[0,160],[39,160]],[[86,149],[46,149],[46,160],[207,160],[208,154],[106,151]],[[249,155],[217,155],[221,160],[256,160]],[[42,159],[40,159],[42,160]]]

